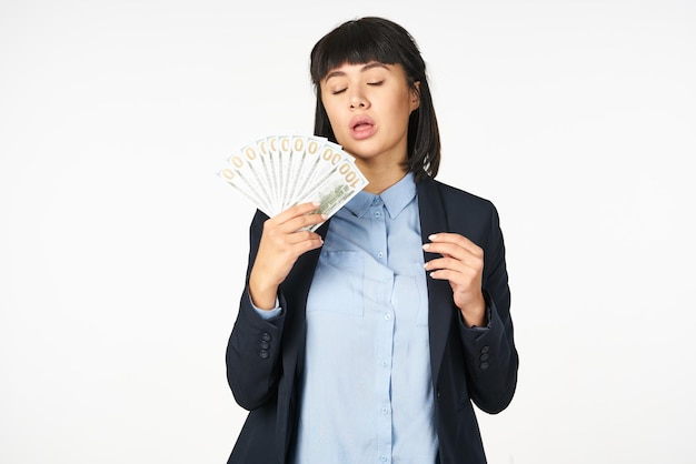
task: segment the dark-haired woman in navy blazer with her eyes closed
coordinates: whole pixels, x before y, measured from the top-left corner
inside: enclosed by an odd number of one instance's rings
[[[369,184],[330,219],[255,215],[227,349],[249,415],[228,463],[485,463],[473,404],[507,407],[518,366],[497,211],[434,180],[437,120],[404,28],[348,21],[310,71],[315,134]]]

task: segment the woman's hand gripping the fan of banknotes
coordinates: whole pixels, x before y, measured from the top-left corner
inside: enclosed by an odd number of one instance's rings
[[[306,228],[327,220],[324,214],[312,213],[319,203],[301,203],[268,219],[259,250],[249,275],[249,296],[261,310],[276,306],[278,285],[290,273],[297,259],[309,250],[322,245],[321,236]]]

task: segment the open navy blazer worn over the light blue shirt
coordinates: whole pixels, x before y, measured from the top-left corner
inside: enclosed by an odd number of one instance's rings
[[[419,181],[417,191],[422,243],[432,233],[455,232],[484,250],[487,330],[464,325],[449,282],[427,282],[438,461],[486,463],[473,403],[491,414],[506,408],[515,393],[518,369],[498,213],[490,201],[431,179]],[[267,219],[257,212],[251,222],[247,280]],[[317,232],[326,236],[327,228],[328,221]],[[291,456],[298,418],[297,384],[305,357],[305,305],[319,253],[312,250],[301,255],[280,285],[284,312],[278,317],[262,320],[245,289],[226,361],[235,400],[249,414],[228,464],[285,464]],[[432,258],[425,254],[426,261]]]

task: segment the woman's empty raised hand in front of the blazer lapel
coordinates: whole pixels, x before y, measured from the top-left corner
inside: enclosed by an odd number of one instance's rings
[[[455,304],[468,326],[486,325],[486,301],[481,291],[484,250],[469,239],[456,233],[437,233],[422,245],[428,253],[439,253],[426,263],[432,279],[449,281]]]

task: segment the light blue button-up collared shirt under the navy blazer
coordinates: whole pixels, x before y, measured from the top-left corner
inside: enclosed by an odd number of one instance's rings
[[[435,463],[421,244],[411,174],[331,219],[307,301],[296,463]]]

